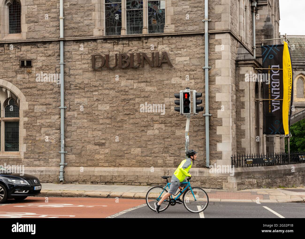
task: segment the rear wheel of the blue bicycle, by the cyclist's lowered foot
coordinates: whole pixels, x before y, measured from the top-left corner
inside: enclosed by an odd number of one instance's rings
[[[166,189],[164,189],[163,193],[162,193],[162,191],[163,191],[163,187],[155,186],[155,187],[152,187],[151,189],[149,189],[146,194],[146,197],[145,197],[146,204],[154,212],[156,212],[155,202],[158,203],[161,200],[161,198],[164,196],[164,194],[167,193]],[[162,212],[166,208],[168,208],[168,206],[170,205],[169,199],[170,199],[170,197],[167,198],[167,201],[163,201],[163,203],[161,203],[161,206],[159,209],[160,212]]]

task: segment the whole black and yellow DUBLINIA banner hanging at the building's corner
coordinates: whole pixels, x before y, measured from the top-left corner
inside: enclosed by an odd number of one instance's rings
[[[263,73],[268,79],[262,82],[263,132],[288,135],[293,96],[290,49],[286,42],[279,45],[263,45],[261,48],[263,68],[267,68],[263,69]]]

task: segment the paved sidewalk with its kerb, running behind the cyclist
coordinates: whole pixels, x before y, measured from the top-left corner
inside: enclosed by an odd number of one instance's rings
[[[41,183],[38,197],[121,197],[145,199],[151,186]],[[239,191],[204,189],[209,201],[305,202],[305,187],[259,188]]]

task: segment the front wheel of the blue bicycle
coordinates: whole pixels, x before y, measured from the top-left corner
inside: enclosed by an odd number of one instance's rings
[[[202,212],[209,204],[208,194],[200,187],[192,187],[183,195],[183,205],[194,213]]]

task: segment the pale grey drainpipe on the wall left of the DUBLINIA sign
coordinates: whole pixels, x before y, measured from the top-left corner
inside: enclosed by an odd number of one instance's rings
[[[59,1],[59,28],[60,28],[60,38],[63,38],[63,0]],[[64,167],[67,165],[65,163],[65,133],[64,133],[64,126],[65,126],[65,109],[67,107],[64,106],[64,81],[63,81],[63,40],[60,41],[60,167],[59,167],[59,181],[62,183],[63,181],[63,173]]]

